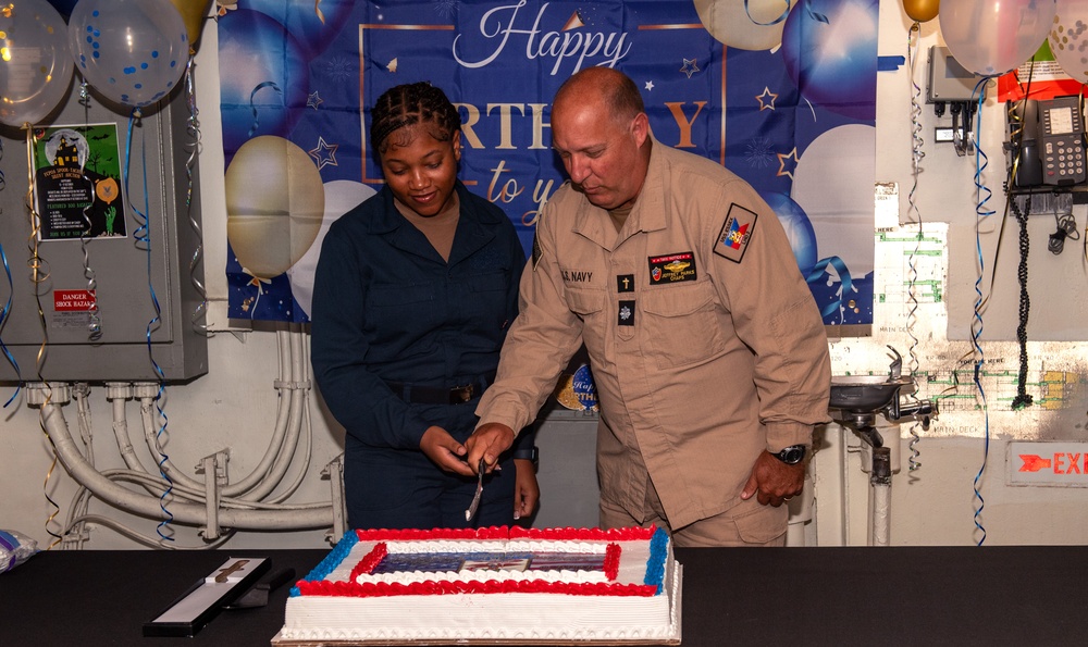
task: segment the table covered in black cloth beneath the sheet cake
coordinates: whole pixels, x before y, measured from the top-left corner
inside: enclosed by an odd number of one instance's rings
[[[228,557],[309,572],[326,550],[41,552],[0,574],[0,645],[268,646],[287,586],[193,638],[143,625]],[[1088,547],[687,548],[683,645],[1078,645]]]

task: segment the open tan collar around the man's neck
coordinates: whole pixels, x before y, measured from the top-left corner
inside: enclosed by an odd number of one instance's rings
[[[627,216],[627,222],[619,235],[608,217],[608,213],[599,207],[594,207],[584,196],[574,216],[573,231],[609,251],[638,232],[656,232],[665,228],[665,204],[668,201],[668,183],[666,175],[668,164],[662,154],[663,145],[651,136],[653,142],[650,151],[650,165],[646,177],[642,181],[642,189],[634,201],[634,209]]]

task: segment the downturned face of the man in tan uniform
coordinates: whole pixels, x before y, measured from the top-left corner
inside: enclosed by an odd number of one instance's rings
[[[552,113],[552,146],[574,188],[602,209],[630,207],[645,179],[646,115],[615,117],[602,101],[568,98]]]

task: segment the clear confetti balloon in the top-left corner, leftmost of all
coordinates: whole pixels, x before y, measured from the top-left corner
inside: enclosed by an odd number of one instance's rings
[[[36,124],[67,96],[72,53],[64,20],[45,0],[0,7],[0,123]]]

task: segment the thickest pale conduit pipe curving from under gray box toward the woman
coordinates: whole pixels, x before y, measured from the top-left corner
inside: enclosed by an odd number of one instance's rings
[[[41,426],[49,435],[61,464],[72,477],[92,492],[103,502],[132,514],[148,519],[165,519],[158,497],[134,493],[102,476],[89,464],[79,451],[67,422],[59,405],[45,402],[40,411]],[[172,523],[206,526],[208,513],[202,503],[176,503],[170,506]],[[330,527],[333,523],[332,506],[295,510],[236,510],[221,509],[219,525],[233,530],[276,531],[311,530]]]

